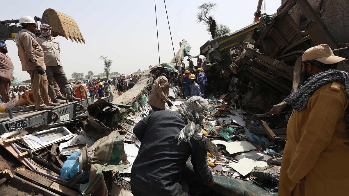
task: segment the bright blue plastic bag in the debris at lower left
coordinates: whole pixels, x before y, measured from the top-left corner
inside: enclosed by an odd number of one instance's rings
[[[61,178],[64,180],[69,180],[76,173],[79,172],[79,162],[76,161],[76,158],[79,157],[79,151],[73,152],[66,161],[64,161],[61,168]],[[81,174],[80,174],[81,175]],[[90,177],[89,174],[86,174],[79,182],[88,180]]]

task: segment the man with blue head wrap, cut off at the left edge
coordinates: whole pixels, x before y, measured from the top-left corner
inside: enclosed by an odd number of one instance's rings
[[[6,54],[7,52],[5,41],[0,40],[0,95],[2,95],[2,100],[5,103],[10,100],[10,85],[14,80],[12,75],[13,63]]]

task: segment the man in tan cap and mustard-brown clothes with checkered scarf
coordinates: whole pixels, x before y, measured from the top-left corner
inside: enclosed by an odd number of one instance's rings
[[[305,51],[303,84],[285,98],[294,111],[287,125],[279,196],[347,195],[349,182],[349,73],[321,44]]]

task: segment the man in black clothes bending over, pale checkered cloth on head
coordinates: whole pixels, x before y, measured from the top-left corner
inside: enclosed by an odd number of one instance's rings
[[[194,96],[178,111],[155,111],[137,123],[133,133],[142,143],[132,165],[133,195],[188,195],[181,176],[190,156],[201,184],[214,185],[200,127],[208,109],[205,99]]]

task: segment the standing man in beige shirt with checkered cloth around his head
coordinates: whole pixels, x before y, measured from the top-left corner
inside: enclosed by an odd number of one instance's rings
[[[40,25],[41,35],[35,40],[43,48],[45,55],[45,65],[46,65],[46,75],[49,81],[49,96],[54,102],[59,102],[60,100],[65,100],[62,95],[57,95],[55,92],[55,82],[57,82],[61,91],[66,93],[67,99],[72,100],[72,95],[69,90],[65,92],[66,88],[69,88],[67,76],[63,70],[62,63],[60,62],[59,53],[61,48],[59,46],[58,39],[51,36],[51,26],[45,23]],[[57,90],[56,90],[57,91]],[[79,101],[79,98],[73,96],[74,101]]]

